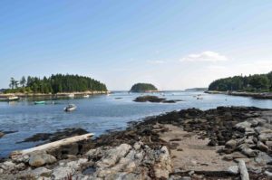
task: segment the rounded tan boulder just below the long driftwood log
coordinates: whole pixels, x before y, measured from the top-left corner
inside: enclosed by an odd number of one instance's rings
[[[44,152],[34,152],[29,157],[29,165],[38,167],[46,164],[53,164],[56,162],[56,158],[52,155],[48,155]]]

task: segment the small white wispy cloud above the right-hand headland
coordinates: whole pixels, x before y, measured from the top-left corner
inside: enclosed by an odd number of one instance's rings
[[[228,61],[228,58],[224,55],[219,54],[219,52],[200,52],[189,54],[182,59],[180,62],[224,62]]]

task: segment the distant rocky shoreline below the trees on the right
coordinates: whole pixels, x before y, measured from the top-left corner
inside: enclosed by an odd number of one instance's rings
[[[252,97],[255,99],[272,99],[271,92],[238,92],[238,91],[218,91],[218,90],[207,90],[205,93],[208,94],[226,94],[231,96],[245,96],[245,97]]]

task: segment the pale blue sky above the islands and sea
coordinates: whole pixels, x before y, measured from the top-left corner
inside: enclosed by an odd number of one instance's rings
[[[109,90],[272,71],[271,0],[0,1],[0,88],[69,73]]]

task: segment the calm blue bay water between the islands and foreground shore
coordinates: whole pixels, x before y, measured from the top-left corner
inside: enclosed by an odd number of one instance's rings
[[[196,99],[201,94],[203,99]],[[18,102],[0,102],[0,130],[18,131],[0,138],[0,156],[7,156],[11,151],[34,147],[41,143],[22,143],[26,137],[36,133],[55,132],[63,128],[84,128],[96,136],[106,130],[126,128],[132,120],[141,120],[147,116],[163,112],[199,108],[211,109],[218,106],[255,106],[272,109],[272,100],[251,99],[226,95],[209,95],[199,91],[169,91],[164,93],[166,99],[182,99],[174,104],[141,103],[132,99],[139,93],[114,92],[110,96],[96,95],[88,99],[47,100],[45,105],[34,105],[34,99],[23,99]],[[160,93],[154,95],[162,97]],[[78,109],[66,113],[63,108],[75,104]]]

